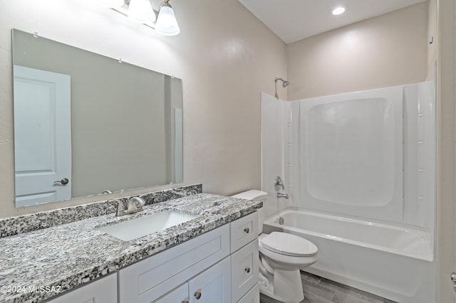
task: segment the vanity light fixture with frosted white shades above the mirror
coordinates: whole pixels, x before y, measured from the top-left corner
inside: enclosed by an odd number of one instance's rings
[[[150,0],[121,0],[122,4],[117,6],[119,0],[98,0],[113,3],[108,7],[118,11],[133,21],[144,23],[146,26],[154,28],[157,33],[165,36],[176,36],[180,33],[177,25],[176,16],[170,5],[170,0],[165,0],[160,4],[159,11],[152,9]]]

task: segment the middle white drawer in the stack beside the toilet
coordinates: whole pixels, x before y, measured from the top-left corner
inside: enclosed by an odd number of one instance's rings
[[[249,289],[258,284],[258,240],[244,246],[231,257],[231,287],[233,302],[237,302]]]

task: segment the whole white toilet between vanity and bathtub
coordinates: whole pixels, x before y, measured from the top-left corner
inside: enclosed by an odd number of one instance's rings
[[[244,191],[234,195],[253,201],[263,201],[259,209],[259,289],[262,294],[281,302],[301,302],[304,292],[299,270],[317,260],[318,248],[309,240],[289,233],[263,234],[268,194],[264,191]]]

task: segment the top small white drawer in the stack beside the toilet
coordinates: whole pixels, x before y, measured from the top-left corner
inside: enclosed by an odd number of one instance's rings
[[[231,224],[231,252],[258,237],[258,212],[233,221]]]

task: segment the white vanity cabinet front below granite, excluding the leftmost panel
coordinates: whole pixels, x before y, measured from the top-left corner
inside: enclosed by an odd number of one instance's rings
[[[125,267],[119,302],[259,302],[257,238],[255,212]]]

